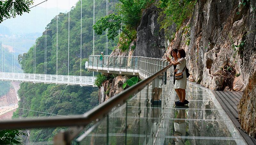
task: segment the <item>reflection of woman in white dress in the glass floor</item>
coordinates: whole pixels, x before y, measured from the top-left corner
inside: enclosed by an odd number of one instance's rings
[[[183,106],[185,108],[188,108],[188,106]],[[178,115],[176,117],[176,120],[174,120],[173,126],[174,126],[174,136],[172,144],[175,145],[185,145],[185,136],[187,136],[188,133],[186,133],[187,124],[185,122],[185,108],[177,109]]]

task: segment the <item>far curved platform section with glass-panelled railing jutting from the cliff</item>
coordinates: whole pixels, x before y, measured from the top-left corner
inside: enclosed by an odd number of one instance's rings
[[[88,69],[116,71],[120,74],[122,72],[132,72],[133,75],[138,73],[141,77],[148,78],[168,64],[169,62],[166,59],[159,58],[90,55]]]

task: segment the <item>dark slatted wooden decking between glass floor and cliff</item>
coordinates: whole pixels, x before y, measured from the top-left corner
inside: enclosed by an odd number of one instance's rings
[[[217,100],[220,102],[222,108],[226,111],[231,121],[236,126],[237,130],[243,136],[244,140],[248,145],[256,145],[256,139],[249,136],[242,131],[241,125],[238,122],[238,111],[237,104],[242,98],[242,92],[228,92],[228,91],[212,91],[216,96]]]

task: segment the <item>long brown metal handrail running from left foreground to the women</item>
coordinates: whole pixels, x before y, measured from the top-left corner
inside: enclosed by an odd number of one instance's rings
[[[57,127],[57,126],[86,126],[92,121],[99,121],[104,118],[105,115],[112,110],[112,108],[124,104],[129,98],[130,95],[134,95],[141,91],[145,86],[147,86],[152,80],[158,77],[160,74],[165,72],[170,68],[172,64],[167,65],[160,71],[146,78],[145,80],[140,81],[139,83],[133,85],[130,88],[125,89],[120,94],[110,98],[108,101],[99,104],[94,107],[92,110],[84,113],[82,116],[76,115],[67,117],[40,117],[40,118],[25,118],[25,119],[13,119],[13,120],[4,120],[0,121],[0,130],[3,129],[25,129],[25,128],[41,128],[41,127]],[[79,134],[79,132],[73,134]]]

